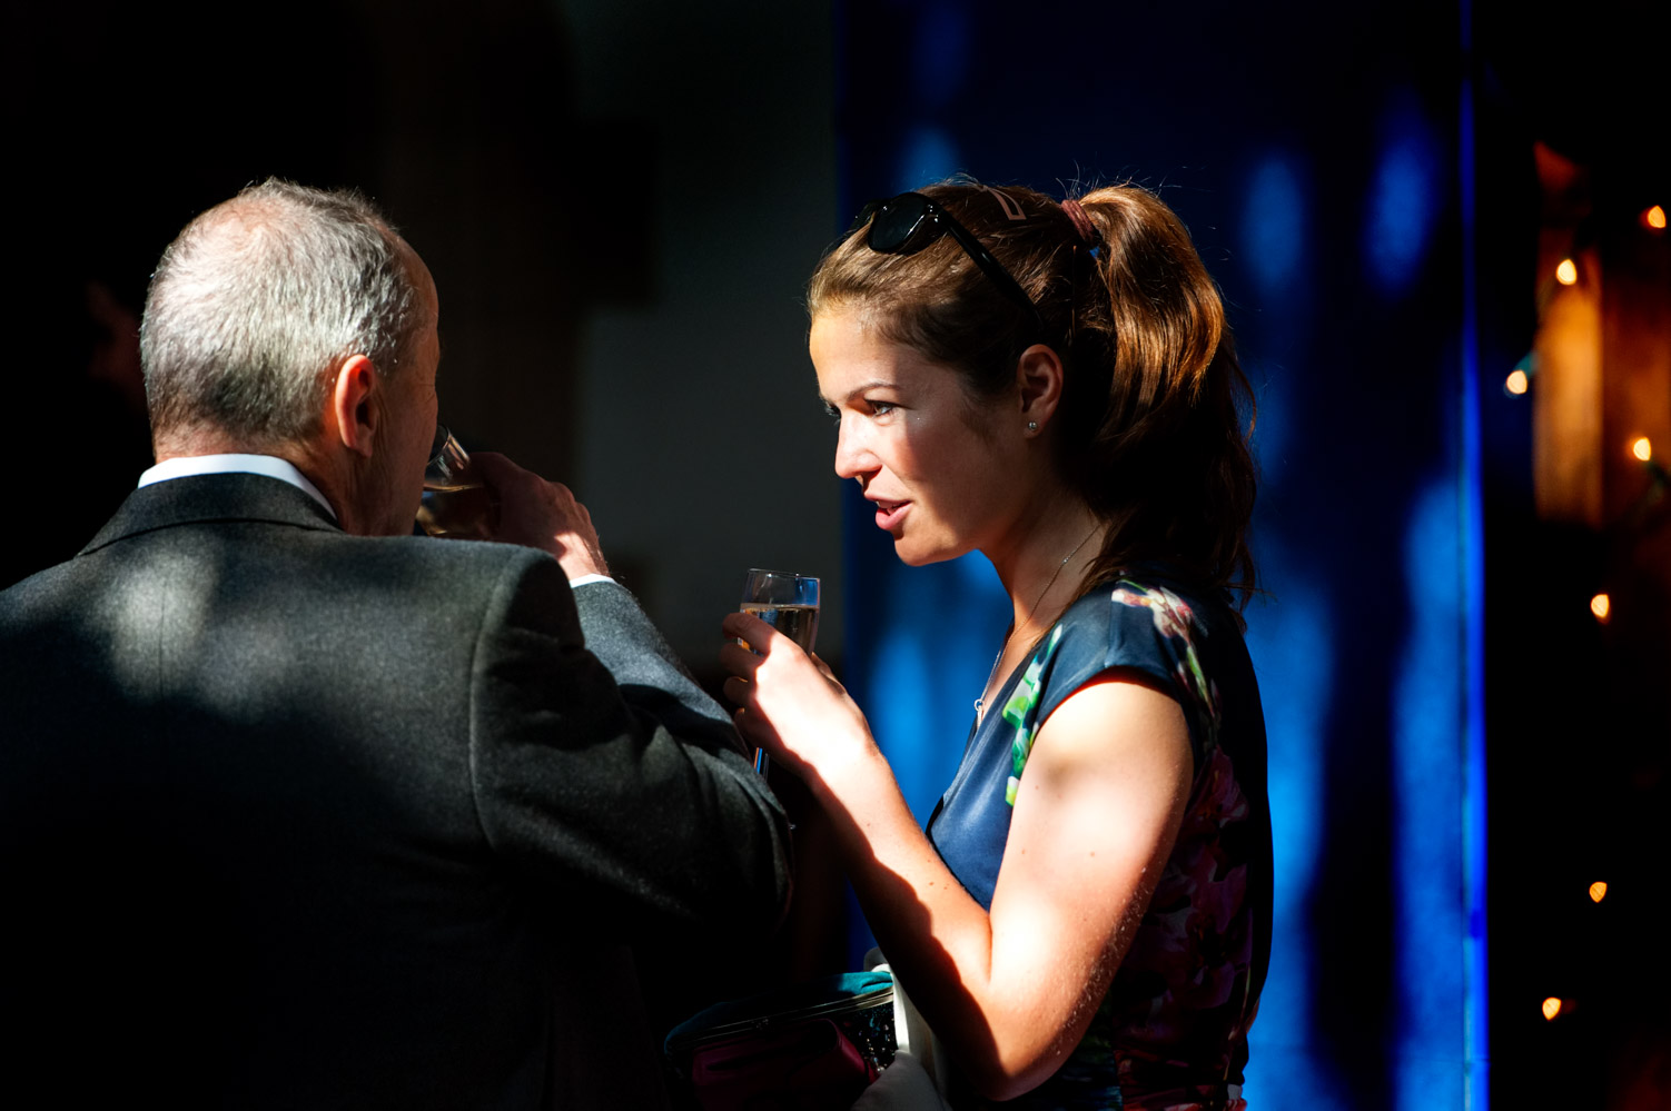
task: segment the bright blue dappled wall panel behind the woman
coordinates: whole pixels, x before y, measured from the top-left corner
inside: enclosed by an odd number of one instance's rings
[[[842,40],[864,48],[842,62],[842,187],[857,202],[968,172],[1061,195],[1135,177],[1190,227],[1260,406],[1267,593],[1247,616],[1277,895],[1247,1094],[1477,1111],[1484,987],[1465,951],[1484,875],[1464,867],[1464,820],[1482,743],[1467,648],[1479,471],[1455,13],[1330,8],[1310,33],[1265,20],[847,3]],[[926,819],[1008,605],[978,561],[899,565],[856,495],[849,685]],[[866,944],[862,922],[854,937]]]

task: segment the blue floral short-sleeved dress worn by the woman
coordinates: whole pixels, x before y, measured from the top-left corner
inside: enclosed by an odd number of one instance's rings
[[[1178,700],[1195,780],[1171,857],[1089,1029],[1054,1076],[1004,1106],[1238,1111],[1270,956],[1272,849],[1258,687],[1223,600],[1141,571],[1076,601],[999,692],[1003,710],[971,730],[927,834],[991,907],[1033,738],[1110,668]]]

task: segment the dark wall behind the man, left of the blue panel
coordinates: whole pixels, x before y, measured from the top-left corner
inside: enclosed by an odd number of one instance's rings
[[[834,209],[827,3],[75,0],[7,23],[3,187],[28,279],[5,373],[20,411],[75,413],[32,418],[25,454],[75,439],[92,478],[0,581],[74,553],[149,464],[150,267],[276,174],[383,204],[439,287],[441,419],[575,486],[700,672],[745,568],[841,596],[800,307]],[[92,307],[90,284],[110,294]],[[841,640],[832,613],[825,652]]]

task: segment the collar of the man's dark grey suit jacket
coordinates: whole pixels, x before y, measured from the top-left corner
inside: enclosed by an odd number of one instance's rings
[[[206,521],[269,521],[341,533],[306,491],[266,474],[196,474],[140,486],[82,548],[97,551],[139,533]]]

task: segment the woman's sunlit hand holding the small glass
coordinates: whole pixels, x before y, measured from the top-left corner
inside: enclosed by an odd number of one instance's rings
[[[752,613],[730,613],[720,628],[749,645],[720,648],[720,665],[730,672],[725,697],[739,707],[744,740],[812,785],[877,755],[864,713],[824,660]]]

